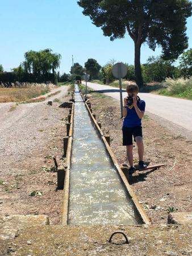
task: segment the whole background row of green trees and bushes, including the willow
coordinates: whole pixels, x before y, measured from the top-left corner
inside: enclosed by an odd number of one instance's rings
[[[37,53],[37,54],[36,54]],[[99,65],[95,59],[88,59],[84,67],[79,63],[74,63],[70,68],[70,73],[56,72],[59,68],[60,55],[52,54],[50,49],[44,51],[34,52],[29,51],[25,53],[25,61],[19,65],[18,68],[13,68],[13,72],[3,72],[3,67],[0,65],[0,81],[2,77],[9,77],[9,81],[20,82],[43,82],[52,81],[56,82],[71,82],[73,80],[81,80],[85,73],[90,75],[90,80],[101,80],[104,84],[109,84],[115,80],[112,75],[112,66],[115,60],[110,60],[103,67]],[[55,58],[55,59],[54,59]],[[162,56],[151,56],[148,58],[147,63],[141,64],[141,75],[145,83],[147,82],[162,82],[166,77],[188,78],[192,76],[192,48],[182,53],[178,58],[177,67],[174,65],[175,60],[165,60]],[[135,67],[128,63],[126,80],[136,81]],[[7,82],[7,80],[5,81]]]

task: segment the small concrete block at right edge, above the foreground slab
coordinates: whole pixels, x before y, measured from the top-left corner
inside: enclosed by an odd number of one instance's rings
[[[171,212],[168,215],[168,224],[192,225],[192,212]]]

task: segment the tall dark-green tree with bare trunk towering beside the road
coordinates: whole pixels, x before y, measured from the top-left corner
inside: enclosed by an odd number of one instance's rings
[[[177,58],[187,48],[189,0],[81,0],[78,5],[111,40],[124,38],[128,32],[135,44],[135,76],[139,86],[143,86],[140,49],[144,42],[153,51],[161,46],[166,59]]]

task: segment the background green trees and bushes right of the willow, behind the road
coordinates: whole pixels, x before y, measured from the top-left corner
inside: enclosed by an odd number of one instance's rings
[[[166,77],[188,78],[192,76],[192,48],[182,53],[178,58],[177,67],[174,65],[175,60],[165,60],[161,56],[151,56],[148,58],[147,63],[141,64],[141,75],[145,83],[147,82],[162,82]],[[74,63],[74,66],[70,68],[70,74],[64,73],[60,76],[60,81],[72,81],[81,80],[85,73],[90,75],[90,80],[101,80],[104,84],[109,84],[115,80],[112,75],[112,66],[115,64],[115,60],[110,60],[106,65],[101,67],[97,60],[88,59],[84,65]],[[128,63],[124,63],[127,66],[126,80],[136,81],[135,67]]]

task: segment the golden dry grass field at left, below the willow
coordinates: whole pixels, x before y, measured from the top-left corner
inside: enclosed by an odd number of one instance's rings
[[[28,101],[55,88],[52,84],[31,84],[25,87],[0,88],[0,102]]]

